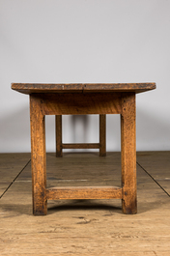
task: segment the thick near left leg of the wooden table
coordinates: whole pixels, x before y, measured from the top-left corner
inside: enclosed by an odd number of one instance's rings
[[[33,213],[45,215],[47,201],[44,115],[42,114],[42,101],[34,95],[30,95],[30,120]]]

